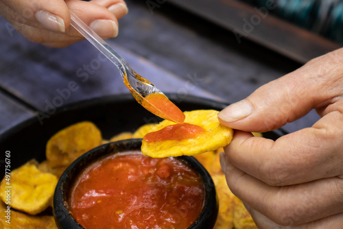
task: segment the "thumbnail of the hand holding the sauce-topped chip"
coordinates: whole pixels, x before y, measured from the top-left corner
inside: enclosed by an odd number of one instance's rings
[[[232,104],[218,113],[218,117],[224,121],[233,122],[244,119],[251,115],[252,106],[246,100]]]

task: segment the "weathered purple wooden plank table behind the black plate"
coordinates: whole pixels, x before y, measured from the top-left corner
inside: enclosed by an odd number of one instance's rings
[[[159,1],[153,9],[150,1],[126,2],[130,12],[108,43],[165,93],[234,103],[302,65],[251,40],[237,43],[226,27],[173,1]],[[0,134],[51,106],[128,93],[115,66],[87,41],[43,47],[12,31],[4,19],[0,34]],[[285,130],[317,119],[311,112]]]

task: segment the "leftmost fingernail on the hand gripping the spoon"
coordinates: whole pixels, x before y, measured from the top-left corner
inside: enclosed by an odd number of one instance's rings
[[[57,32],[65,32],[64,21],[60,16],[51,14],[45,10],[38,10],[35,16],[37,21],[47,29]]]

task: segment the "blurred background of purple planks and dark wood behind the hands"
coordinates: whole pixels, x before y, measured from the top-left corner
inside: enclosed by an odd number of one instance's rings
[[[180,96],[231,104],[343,43],[343,1],[126,3],[119,36],[107,42],[161,91]],[[116,67],[88,41],[44,47],[0,18],[0,138],[22,121],[66,104],[121,93],[129,91]],[[317,120],[311,112],[284,130]]]

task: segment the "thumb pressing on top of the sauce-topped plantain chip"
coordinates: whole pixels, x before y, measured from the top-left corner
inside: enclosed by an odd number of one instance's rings
[[[244,100],[218,114],[223,125],[246,132],[275,130],[306,115],[324,96],[308,64],[258,88]],[[315,93],[314,93],[315,92]],[[314,95],[316,94],[316,95]]]

